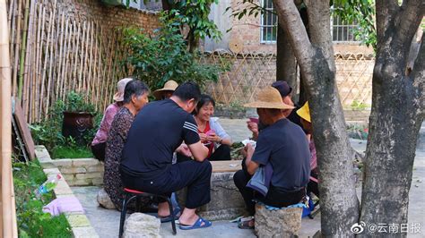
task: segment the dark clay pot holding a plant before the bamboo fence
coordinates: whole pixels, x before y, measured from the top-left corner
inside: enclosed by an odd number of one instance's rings
[[[72,136],[79,145],[85,145],[84,140],[87,130],[93,128],[93,115],[85,112],[64,112],[62,123],[62,135],[68,138]]]

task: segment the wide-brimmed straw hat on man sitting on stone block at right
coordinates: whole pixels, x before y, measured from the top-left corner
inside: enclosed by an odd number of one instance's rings
[[[282,101],[281,94],[277,89],[273,87],[265,87],[256,96],[256,100],[251,103],[247,103],[246,107],[255,108],[271,108],[271,109],[293,109],[294,106],[289,106]]]

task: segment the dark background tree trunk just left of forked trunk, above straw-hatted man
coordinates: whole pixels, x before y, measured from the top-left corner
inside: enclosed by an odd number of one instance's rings
[[[280,25],[277,28],[276,81],[287,81],[292,89],[297,89],[297,60],[292,51],[289,36]],[[292,98],[296,93],[292,93]]]

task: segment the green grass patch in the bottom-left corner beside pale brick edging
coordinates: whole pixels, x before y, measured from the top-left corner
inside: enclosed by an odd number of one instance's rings
[[[38,161],[13,163],[13,184],[19,237],[72,237],[65,215],[51,217],[42,211],[54,199],[53,192],[39,199],[34,191],[47,180]]]

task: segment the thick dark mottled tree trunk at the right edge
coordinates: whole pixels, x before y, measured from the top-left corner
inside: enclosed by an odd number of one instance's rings
[[[424,117],[425,47],[406,75],[409,50],[425,3],[377,1],[377,59],[364,161],[360,221],[407,224],[416,141]],[[423,42],[423,37],[422,37]],[[400,230],[398,231],[400,232]]]

